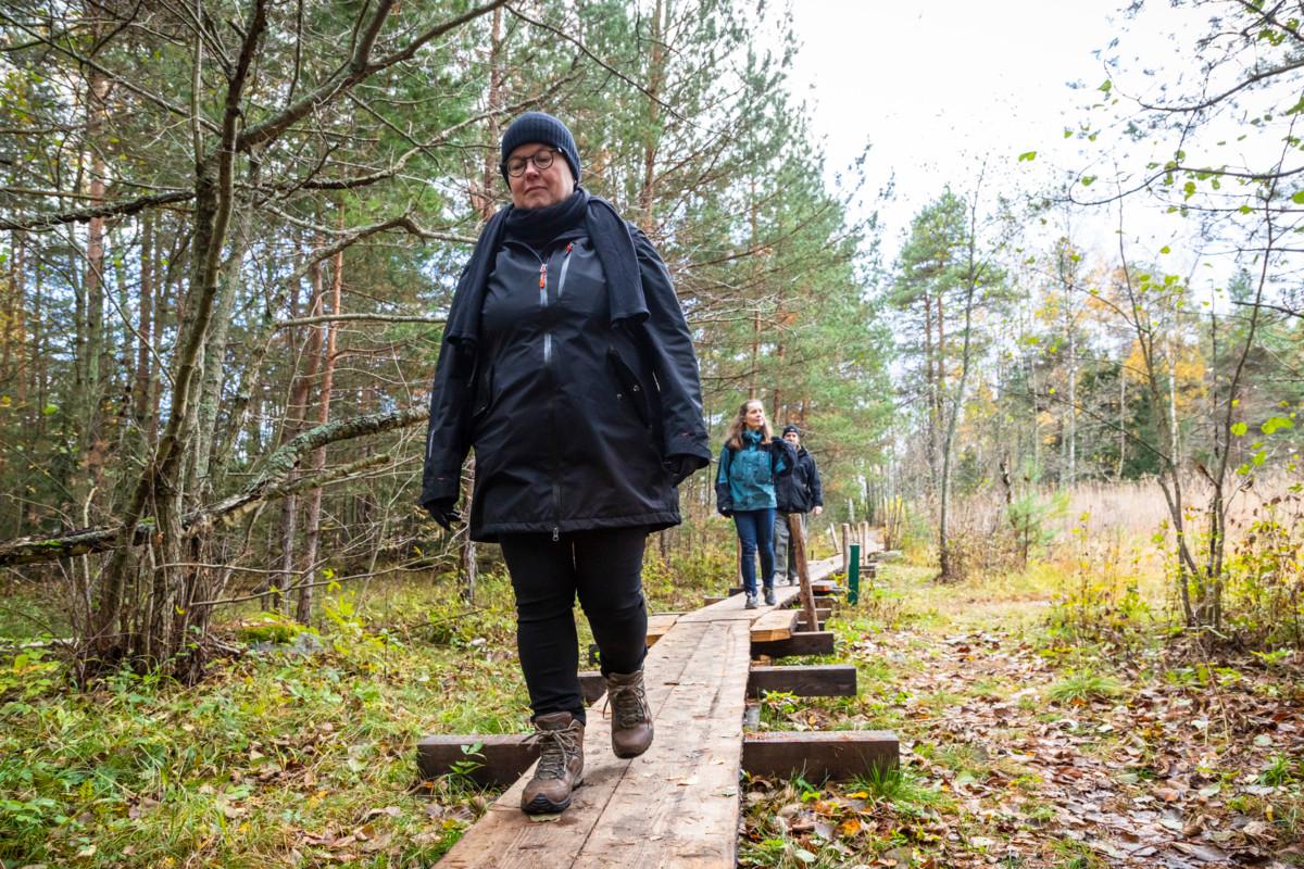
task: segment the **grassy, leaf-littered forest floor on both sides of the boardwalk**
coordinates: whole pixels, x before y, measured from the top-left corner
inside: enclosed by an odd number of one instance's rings
[[[728,556],[698,562],[649,560],[653,610],[719,591]],[[885,565],[831,620],[858,696],[769,694],[760,726],[889,728],[902,766],[745,780],[739,866],[1304,865],[1299,653],[1088,637],[1090,614],[1052,602],[1067,576],[939,586]],[[51,611],[3,593],[9,614]],[[417,739],[528,726],[510,589],[488,575],[468,607],[412,575],[322,603],[303,633],[228,614],[246,651],[189,688],[123,672],[72,691],[48,650],[0,649],[0,869],[434,865],[493,795],[419,782]]]

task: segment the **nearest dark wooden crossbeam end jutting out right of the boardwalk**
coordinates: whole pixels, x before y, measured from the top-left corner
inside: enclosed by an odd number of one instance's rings
[[[883,730],[754,732],[742,745],[742,766],[752,775],[812,783],[891,769],[900,757],[896,734]]]

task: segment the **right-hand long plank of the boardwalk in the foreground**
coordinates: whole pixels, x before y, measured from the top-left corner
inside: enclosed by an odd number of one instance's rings
[[[748,648],[746,623],[707,627],[575,869],[733,869]]]

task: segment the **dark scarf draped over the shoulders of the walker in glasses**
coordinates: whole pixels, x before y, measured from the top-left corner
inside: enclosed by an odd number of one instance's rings
[[[612,323],[647,318],[647,300],[643,296],[643,280],[639,278],[638,255],[629,227],[606,199],[589,195],[583,188],[575,188],[575,193],[554,206],[544,208],[507,206],[489,219],[476,241],[471,262],[458,280],[452,306],[449,309],[445,340],[460,353],[475,353],[480,339],[480,309],[484,307],[489,272],[493,271],[498,249],[506,238],[539,246],[567,229],[574,229],[580,220],[606,274]]]

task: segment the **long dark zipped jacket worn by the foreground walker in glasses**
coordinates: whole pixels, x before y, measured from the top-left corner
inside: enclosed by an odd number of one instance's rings
[[[442,348],[421,503],[458,498],[473,448],[472,539],[679,522],[677,461],[711,460],[696,357],[665,264],[630,233],[645,318],[613,322],[579,227],[541,250],[506,241],[473,350]]]

